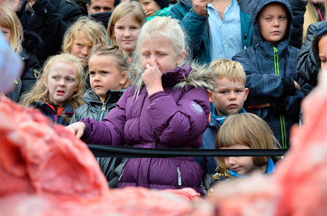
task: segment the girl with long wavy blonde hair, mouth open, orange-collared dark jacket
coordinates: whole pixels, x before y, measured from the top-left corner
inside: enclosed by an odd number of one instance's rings
[[[23,95],[22,105],[40,109],[56,124],[68,125],[75,110],[84,103],[83,77],[83,67],[76,56],[52,56],[44,63],[34,88]]]

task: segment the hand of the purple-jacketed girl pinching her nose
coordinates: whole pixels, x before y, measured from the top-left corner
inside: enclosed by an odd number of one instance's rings
[[[152,60],[148,60],[146,69],[142,74],[142,79],[146,85],[147,93],[149,96],[155,92],[163,91],[161,77],[162,73],[159,70],[157,63]]]

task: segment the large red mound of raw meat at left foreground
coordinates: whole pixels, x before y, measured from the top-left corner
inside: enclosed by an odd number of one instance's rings
[[[98,199],[108,193],[93,154],[39,110],[0,101],[0,197],[27,193]]]

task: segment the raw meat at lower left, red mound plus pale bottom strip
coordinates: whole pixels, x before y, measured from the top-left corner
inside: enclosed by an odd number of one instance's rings
[[[190,188],[109,190],[85,143],[7,100],[0,100],[0,149],[0,215],[214,215]]]

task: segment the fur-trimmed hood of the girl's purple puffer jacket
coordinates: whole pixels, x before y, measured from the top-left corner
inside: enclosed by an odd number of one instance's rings
[[[143,69],[140,67],[133,67],[129,73],[130,85],[137,86],[142,82]],[[197,63],[184,64],[176,67],[173,71],[165,72],[162,76],[163,87],[171,86],[176,89],[182,89],[187,86],[194,86],[196,88],[206,88],[215,91],[215,80],[217,75],[208,65],[200,65]]]

